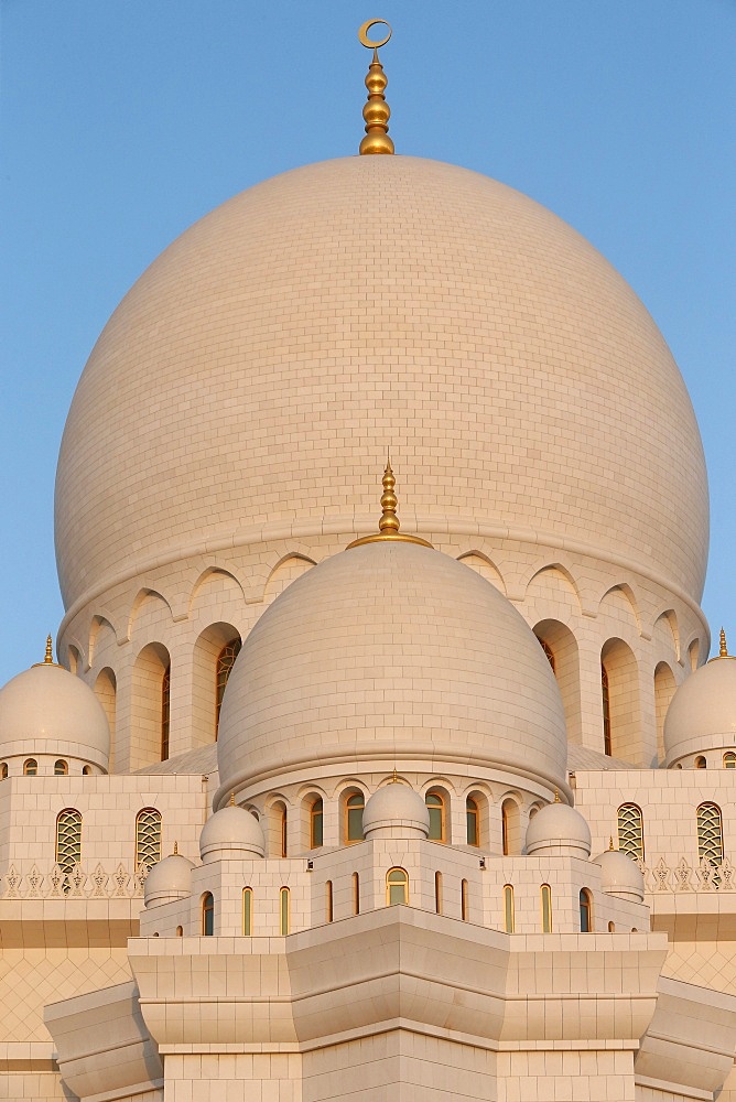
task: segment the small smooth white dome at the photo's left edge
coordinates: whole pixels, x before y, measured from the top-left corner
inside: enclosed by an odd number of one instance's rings
[[[72,758],[107,773],[110,727],[80,678],[48,660],[0,689],[0,757]]]

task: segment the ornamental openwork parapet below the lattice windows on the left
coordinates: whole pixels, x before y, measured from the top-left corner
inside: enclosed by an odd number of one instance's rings
[[[0,877],[0,899],[137,899],[147,875],[147,865],[130,869],[122,862],[112,872],[98,863],[90,873],[83,865],[66,872],[53,865],[47,873],[35,864],[28,872],[11,865]]]

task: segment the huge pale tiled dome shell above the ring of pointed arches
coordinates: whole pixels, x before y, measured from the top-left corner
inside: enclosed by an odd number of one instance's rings
[[[389,441],[414,530],[615,555],[700,599],[701,441],[636,294],[502,184],[356,156],[236,196],[110,318],[58,465],[67,607],[152,563],[355,531]]]

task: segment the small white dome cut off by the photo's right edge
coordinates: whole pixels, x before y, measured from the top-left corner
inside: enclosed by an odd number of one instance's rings
[[[672,698],[664,719],[664,764],[671,768],[708,750],[734,749],[736,659],[722,655],[691,673]]]

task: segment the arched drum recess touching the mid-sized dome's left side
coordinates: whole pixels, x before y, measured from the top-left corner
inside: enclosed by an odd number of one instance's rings
[[[240,652],[240,634],[231,624],[210,624],[194,645],[192,668],[192,739],[194,746],[217,741],[228,678]]]

